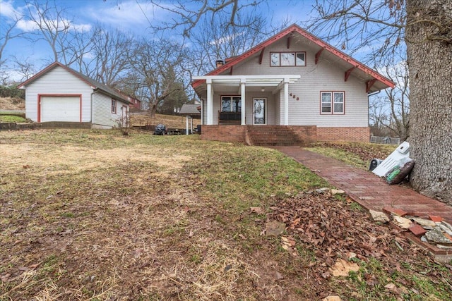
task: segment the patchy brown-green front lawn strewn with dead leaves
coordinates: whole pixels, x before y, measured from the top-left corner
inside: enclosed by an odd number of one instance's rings
[[[452,298],[452,266],[273,149],[3,131],[0,164],[0,300]]]

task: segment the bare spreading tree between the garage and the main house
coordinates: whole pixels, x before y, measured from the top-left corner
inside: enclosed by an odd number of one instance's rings
[[[131,55],[133,73],[128,85],[136,91],[136,96],[148,103],[151,118],[157,107],[175,92],[184,90],[184,62],[186,49],[183,44],[160,39],[138,42]]]

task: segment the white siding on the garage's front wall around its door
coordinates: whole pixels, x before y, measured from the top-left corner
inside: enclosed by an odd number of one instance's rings
[[[26,86],[25,116],[37,122],[39,94],[81,94],[82,122],[91,121],[91,89],[83,80],[57,66]]]

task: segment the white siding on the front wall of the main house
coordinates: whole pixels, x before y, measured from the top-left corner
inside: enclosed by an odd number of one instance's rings
[[[306,51],[307,66],[304,67],[270,67],[270,51]],[[287,49],[287,40],[281,39],[266,48],[262,64],[258,63],[258,56],[234,66],[234,75],[281,75],[299,74],[301,78],[295,84],[289,85],[289,93],[299,100],[289,97],[289,124],[290,125],[317,125],[320,127],[367,127],[368,102],[365,92],[365,82],[355,78],[353,73],[344,81],[345,70],[336,67],[335,61],[319,60],[314,63],[316,51],[309,44],[292,40],[290,49]],[[345,114],[321,115],[320,92],[344,91]],[[268,124],[280,124],[284,120],[284,94],[268,95]],[[251,106],[253,97],[262,96],[261,92],[246,93],[246,121],[251,124]],[[279,100],[281,99],[281,100]],[[214,122],[218,118],[220,108],[219,95],[214,96]],[[271,116],[271,119],[270,119]],[[271,121],[271,122],[270,122]]]

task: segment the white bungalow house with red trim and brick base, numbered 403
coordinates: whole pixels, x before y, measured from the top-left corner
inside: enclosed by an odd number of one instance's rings
[[[394,87],[298,25],[192,80],[201,138],[250,145],[369,142],[368,95]]]

